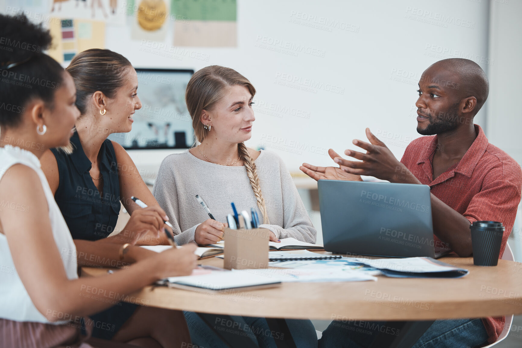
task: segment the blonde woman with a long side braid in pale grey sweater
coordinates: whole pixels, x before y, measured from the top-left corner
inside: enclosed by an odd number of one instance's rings
[[[315,243],[317,231],[282,160],[275,153],[244,144],[252,136],[255,93],[244,76],[216,65],[197,71],[188,82],[185,100],[199,145],[165,158],[153,189],[174,226],[176,243],[220,241],[227,214],[232,213],[230,202],[249,214],[251,208],[257,209],[260,227],[271,231],[270,241],[293,237]],[[195,198],[197,194],[205,199],[216,220],[208,218]],[[226,346],[197,314],[186,312],[185,318],[194,344]],[[216,318],[216,322],[223,322]],[[266,319],[230,318],[239,322],[239,327],[250,327],[247,333],[260,347],[276,346],[278,338],[265,334],[270,333]],[[317,346],[310,320],[287,320],[287,324],[297,346]],[[228,340],[233,342],[234,334],[230,336]]]

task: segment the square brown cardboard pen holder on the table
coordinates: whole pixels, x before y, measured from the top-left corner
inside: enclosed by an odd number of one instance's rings
[[[268,229],[226,228],[224,267],[226,269],[268,268]]]

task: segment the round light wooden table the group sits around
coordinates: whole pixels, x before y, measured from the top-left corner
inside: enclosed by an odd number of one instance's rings
[[[213,266],[221,262],[222,265],[222,259],[217,258],[200,261]],[[468,268],[470,274],[461,279],[442,279],[438,282],[434,279],[397,279],[379,276],[377,282],[283,283],[280,287],[272,289],[222,291],[215,294],[169,289],[163,286],[146,286],[129,295],[126,302],[201,313],[289,319],[431,320],[522,314],[522,277],[507,279],[504,285],[507,284],[509,287],[506,287],[487,280],[475,279],[477,277],[473,278],[472,275],[475,272],[498,278],[510,268],[522,270],[522,263],[499,260],[497,267],[480,268],[472,265],[471,258],[447,257],[442,261]],[[106,269],[82,268],[82,276],[102,274],[106,274]],[[515,274],[514,276],[517,277]],[[465,283],[454,283],[459,281]],[[432,285],[424,284],[424,289],[418,289],[407,296],[394,295],[397,291],[402,291],[402,285],[406,287],[405,290],[408,290],[409,285],[419,284],[419,282]],[[427,298],[423,301],[422,292],[429,292],[428,287],[440,286],[441,283],[460,287],[468,284],[471,288],[474,287],[474,296],[467,298],[466,294],[460,294],[460,297],[456,295],[457,297],[454,296],[450,300],[443,297],[442,299]],[[386,293],[387,285],[390,287],[389,295],[379,298],[379,292]],[[328,296],[329,289],[333,289],[332,291],[337,295]],[[498,294],[499,289],[503,290],[501,295]],[[342,296],[342,291],[351,290],[358,296],[347,295],[346,301],[342,301],[345,298]],[[448,291],[451,292],[451,288],[448,288]],[[363,293],[365,295],[361,297]]]

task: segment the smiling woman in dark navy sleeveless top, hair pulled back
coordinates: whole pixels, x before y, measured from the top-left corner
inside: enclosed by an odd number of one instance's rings
[[[127,152],[107,139],[132,129],[132,114],[141,108],[137,74],[122,55],[99,49],[76,55],[67,71],[76,85],[81,116],[69,147],[42,155],[42,170],[73,236],[78,265],[124,267],[156,254],[127,243],[168,244],[163,231],[167,215]],[[139,208],[132,196],[149,207]],[[116,226],[120,202],[131,218],[124,231],[108,237]],[[128,342],[138,335],[162,346],[180,339],[189,342],[182,311],[118,303],[91,318],[106,324],[94,325],[92,336],[97,338]],[[147,340],[132,343],[148,346]]]

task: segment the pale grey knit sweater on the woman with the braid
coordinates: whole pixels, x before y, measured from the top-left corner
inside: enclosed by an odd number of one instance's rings
[[[269,229],[279,239],[293,237],[315,243],[317,231],[283,161],[277,154],[262,150],[255,164],[270,219],[269,225],[259,227]],[[263,223],[244,166],[213,164],[188,150],[163,160],[152,193],[174,226],[178,245],[193,242],[196,227],[209,219],[196,195],[205,200],[218,221],[227,222],[227,214],[232,213],[230,202],[234,202],[239,212],[246,210],[249,216],[250,209],[255,208]]]

